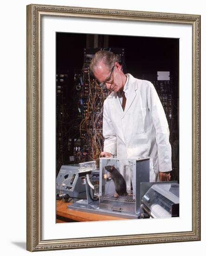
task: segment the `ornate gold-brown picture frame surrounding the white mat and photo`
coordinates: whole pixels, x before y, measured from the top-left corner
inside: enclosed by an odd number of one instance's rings
[[[45,30],[43,17],[62,19],[89,19],[93,22],[146,22],[165,26],[188,25],[192,29],[192,102],[191,102],[191,229],[189,231],[160,232],[146,234],[84,236],[73,238],[45,239],[43,237],[45,189],[44,161],[45,141],[43,127],[45,122],[45,93],[42,77],[42,37]],[[54,77],[54,76],[53,76]],[[44,115],[42,115],[44,113]],[[55,167],[54,167],[55,168]],[[74,224],[74,223],[73,223]],[[81,224],[81,223],[80,223]],[[82,225],[82,224],[81,224]],[[200,15],[152,13],[128,10],[109,10],[84,7],[60,7],[49,5],[27,6],[27,250],[80,249],[137,245],[148,243],[171,243],[200,240]]]

